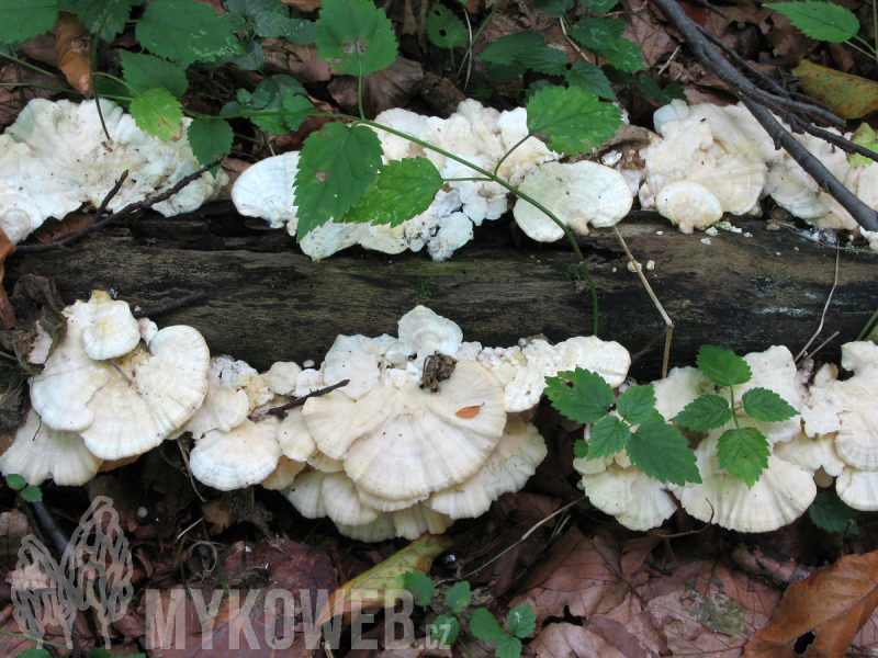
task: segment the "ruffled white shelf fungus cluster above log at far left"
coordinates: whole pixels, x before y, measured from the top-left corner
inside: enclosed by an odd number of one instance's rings
[[[97,103],[35,99],[0,136],[0,228],[13,243],[48,217],[63,219],[83,204],[98,207],[123,171],[130,174],[110,201],[111,211],[169,190],[200,168],[185,132],[176,141],[161,141],[101,99],[104,134]],[[166,216],[194,211],[226,182],[222,171],[204,173],[155,208]]]

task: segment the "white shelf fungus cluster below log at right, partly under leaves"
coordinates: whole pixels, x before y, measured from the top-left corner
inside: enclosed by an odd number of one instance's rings
[[[838,497],[857,510],[878,510],[878,345],[847,343],[842,366],[854,376],[840,381],[837,368],[812,364],[798,371],[789,350],[773,347],[747,354],[752,379],[735,387],[735,398],[753,387],[774,390],[797,411],[789,420],[761,422],[739,417],[742,428],[755,427],[768,440],[772,454],[759,479],[747,487],[720,468],[717,442],[732,428],[702,432],[695,449],[700,484],[676,486],[655,480],[632,466],[624,452],[593,461],[576,460],[582,486],[601,511],[632,530],[661,525],[678,507],[701,521],[742,532],[777,530],[801,515],[817,488],[835,484]],[[654,382],[656,409],[666,419],[705,394],[729,398],[694,367],[674,368]]]

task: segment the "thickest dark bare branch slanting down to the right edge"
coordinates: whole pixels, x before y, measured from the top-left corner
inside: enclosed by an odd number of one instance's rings
[[[754,101],[754,98],[763,98],[769,94],[758,90],[722,57],[675,0],[653,0],[653,4],[658,8],[668,23],[683,36],[699,61],[713,71],[741,99],[741,102],[750,110],[751,114],[772,136],[775,146],[786,149],[792,159],[817,181],[822,190],[829,192],[842,207],[851,213],[857,224],[867,230],[878,230],[878,212],[863,203],[832,175],[820,160],[814,158],[789,132],[784,129],[777,118],[764,106],[764,103]],[[776,99],[777,102],[784,101],[788,103],[786,99],[770,98]]]

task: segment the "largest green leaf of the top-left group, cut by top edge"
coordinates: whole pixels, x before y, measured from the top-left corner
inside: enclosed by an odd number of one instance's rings
[[[156,0],[135,29],[137,41],[183,68],[198,59],[244,55],[229,24],[195,0]]]

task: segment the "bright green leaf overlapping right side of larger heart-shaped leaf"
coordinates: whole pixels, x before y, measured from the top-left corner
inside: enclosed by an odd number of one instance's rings
[[[427,158],[391,160],[339,222],[398,226],[430,207],[441,189],[442,177]]]

